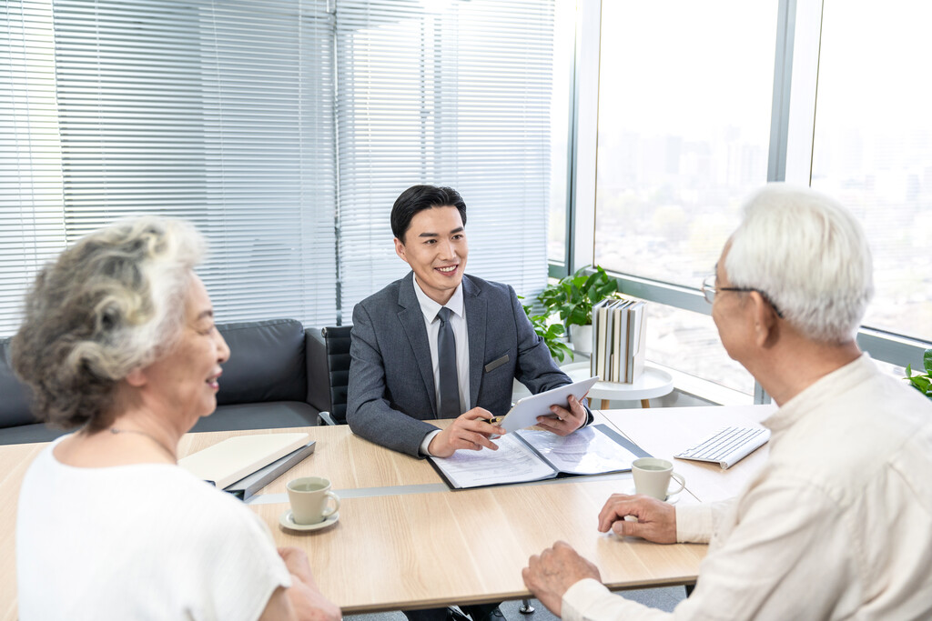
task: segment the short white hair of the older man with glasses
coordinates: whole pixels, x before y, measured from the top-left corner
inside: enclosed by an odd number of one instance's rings
[[[806,337],[852,340],[870,298],[864,230],[837,201],[807,187],[769,183],[751,196],[725,270],[734,287],[761,290]]]

